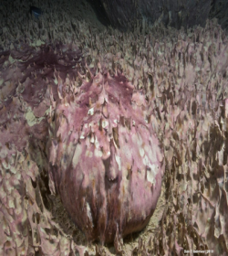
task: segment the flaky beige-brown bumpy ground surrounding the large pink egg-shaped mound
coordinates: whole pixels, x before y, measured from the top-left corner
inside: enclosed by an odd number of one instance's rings
[[[12,14],[7,22],[1,21],[1,46],[9,49],[0,59],[0,254],[117,254],[112,245],[88,244],[48,184],[49,94],[58,101],[59,77],[63,85],[70,85],[69,80],[78,88],[82,81],[74,74],[92,79],[83,58],[78,59],[80,48],[92,74],[107,69],[114,78],[121,69],[142,91],[148,102],[147,125],[164,149],[157,207],[145,229],[117,244],[119,254],[210,250],[209,255],[227,255],[227,35],[214,22],[187,32],[164,27],[148,27],[147,35],[138,28],[126,34],[100,31],[77,21],[71,14],[74,5],[63,3],[55,14],[44,13],[42,20],[28,23],[25,6],[18,1],[15,9],[7,9]],[[22,35],[30,48],[22,41],[11,44]],[[70,46],[72,37],[78,48]],[[59,50],[53,44],[40,66],[45,42],[57,39],[65,44]],[[51,62],[53,55],[57,59]],[[40,57],[35,64],[29,63],[33,57]]]

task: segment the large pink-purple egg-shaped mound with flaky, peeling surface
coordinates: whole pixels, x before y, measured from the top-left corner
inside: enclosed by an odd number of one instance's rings
[[[59,86],[60,85],[60,86]],[[162,154],[146,102],[121,74],[58,81],[49,118],[50,183],[88,240],[140,231],[161,194]]]

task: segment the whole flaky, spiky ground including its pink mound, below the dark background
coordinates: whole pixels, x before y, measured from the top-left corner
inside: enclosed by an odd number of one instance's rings
[[[2,37],[1,253],[114,253],[88,239],[114,240],[122,254],[226,255],[223,29],[210,21],[142,35],[72,21],[73,42],[58,32],[62,43],[54,34],[48,43],[43,22],[25,31],[40,41]]]

